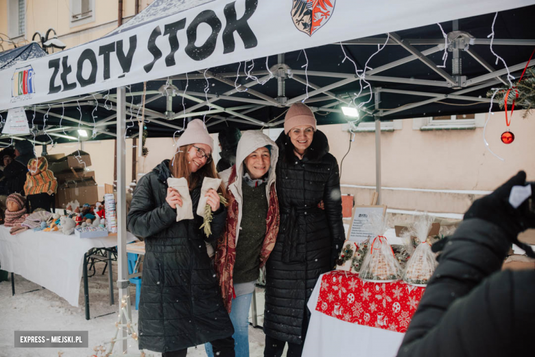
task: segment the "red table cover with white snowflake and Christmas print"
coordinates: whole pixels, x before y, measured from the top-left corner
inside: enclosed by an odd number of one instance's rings
[[[424,290],[403,281],[370,283],[334,270],[322,277],[316,310],[350,323],[406,332]]]

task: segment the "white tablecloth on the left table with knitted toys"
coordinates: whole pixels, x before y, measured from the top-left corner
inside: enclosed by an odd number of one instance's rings
[[[127,242],[135,240],[128,233]],[[10,235],[0,226],[0,264],[2,270],[55,292],[72,306],[78,306],[84,253],[92,248],[117,246],[117,236],[76,238],[75,235],[43,231],[24,231]]]

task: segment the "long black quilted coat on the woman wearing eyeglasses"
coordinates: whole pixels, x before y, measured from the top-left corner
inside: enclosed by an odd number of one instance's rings
[[[176,211],[165,201],[169,160],[143,176],[132,198],[128,230],[145,238],[143,281],[139,300],[139,348],[170,352],[200,345],[234,333],[195,214],[200,186],[190,192],[193,220],[176,222]],[[222,206],[223,207],[223,206]],[[215,240],[222,233],[226,209],[211,223]]]

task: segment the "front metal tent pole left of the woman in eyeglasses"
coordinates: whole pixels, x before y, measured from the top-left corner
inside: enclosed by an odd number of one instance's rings
[[[128,281],[128,259],[126,257],[126,89],[117,88],[117,287],[119,288],[119,313],[123,303],[126,305],[128,319],[132,319],[130,310],[130,281]],[[126,316],[123,321],[126,324]],[[123,340],[122,352],[126,353],[128,341],[126,341],[126,327],[121,327],[119,338]]]

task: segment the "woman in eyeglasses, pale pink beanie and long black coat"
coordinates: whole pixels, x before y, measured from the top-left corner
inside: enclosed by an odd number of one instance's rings
[[[208,238],[200,229],[204,219],[195,214],[204,177],[217,177],[211,159],[213,140],[202,120],[195,119],[177,144],[173,159],[139,180],[127,218],[128,230],[145,238],[139,348],[162,352],[163,357],[183,357],[188,347],[211,342],[217,356],[234,357],[233,325],[204,243],[215,244],[226,219],[214,189],[206,193],[213,211]],[[176,221],[182,198],[167,186],[169,177],[187,179],[193,219]]]

